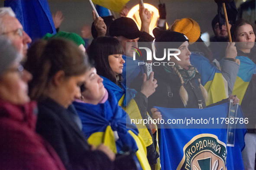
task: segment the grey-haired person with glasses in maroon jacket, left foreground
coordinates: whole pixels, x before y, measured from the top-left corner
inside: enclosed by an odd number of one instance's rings
[[[28,96],[32,75],[11,41],[0,37],[0,169],[65,170],[58,154],[36,133],[36,102]]]

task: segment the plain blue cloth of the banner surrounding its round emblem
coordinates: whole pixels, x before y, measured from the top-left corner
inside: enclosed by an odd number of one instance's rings
[[[222,108],[220,108],[222,107]],[[183,115],[187,119],[193,117],[193,119],[199,119],[202,115],[213,118],[217,124],[216,118],[219,117],[219,124],[220,124],[220,117],[226,118],[227,113],[229,110],[229,103],[217,105],[214,107],[208,107],[205,109],[169,109],[169,108],[162,108],[156,107],[159,112],[162,114],[162,118],[167,122],[168,119],[177,119],[177,115]],[[219,111],[219,110],[225,110]],[[176,116],[176,117],[175,117]],[[243,112],[238,107],[237,117],[243,117]],[[212,121],[212,120],[210,120]],[[198,137],[197,135],[201,136],[200,134],[206,135],[216,135],[217,139],[224,144],[227,143],[227,124],[224,123],[222,129],[174,129],[172,128],[172,124],[161,124],[162,129],[160,129],[160,136],[159,136],[159,148],[160,148],[160,160],[161,160],[161,167],[163,170],[176,170],[179,164],[182,165],[182,158],[187,159],[188,156],[186,155],[187,152],[184,151],[186,147],[189,148],[190,141],[193,141]],[[207,128],[207,125],[205,126]],[[165,129],[164,129],[165,128]],[[172,129],[166,129],[172,128]],[[237,124],[235,132],[235,145],[234,147],[227,146],[227,170],[243,170],[243,160],[241,151],[243,150],[245,143],[244,143],[244,135],[246,134],[246,127],[244,124]],[[198,147],[199,149],[199,147]],[[205,148],[207,150],[207,148]],[[223,148],[221,151],[223,152]],[[191,151],[191,150],[190,150]],[[224,154],[223,154],[224,155]],[[192,159],[192,156],[188,159]],[[215,160],[212,160],[215,161]],[[185,166],[183,164],[183,166]],[[187,166],[188,167],[188,166]],[[181,168],[181,167],[179,167]],[[184,167],[181,169],[185,169]],[[211,168],[210,168],[211,169]],[[218,167],[220,169],[220,167]]]

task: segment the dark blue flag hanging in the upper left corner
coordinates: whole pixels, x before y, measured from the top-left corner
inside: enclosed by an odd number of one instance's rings
[[[47,0],[5,0],[4,6],[13,9],[32,41],[42,38],[46,33],[56,33]]]

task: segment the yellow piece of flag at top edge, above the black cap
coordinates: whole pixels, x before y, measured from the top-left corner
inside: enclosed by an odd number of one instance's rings
[[[92,0],[93,3],[103,6],[111,11],[120,13],[129,0]]]

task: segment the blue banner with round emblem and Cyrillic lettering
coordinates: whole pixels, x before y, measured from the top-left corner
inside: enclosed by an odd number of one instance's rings
[[[200,117],[226,118],[229,103],[208,107],[205,109],[169,109],[156,107],[163,120],[177,118],[177,115],[187,119]],[[237,117],[243,118],[240,106]],[[212,121],[212,120],[210,120]],[[214,123],[214,124],[215,124]],[[172,124],[160,124],[159,148],[163,170],[243,170],[241,151],[243,150],[246,127],[237,123],[235,129],[235,145],[227,146],[227,124],[219,126],[222,129],[175,129]],[[205,125],[207,128],[207,124]],[[169,129],[166,129],[169,128]],[[226,168],[227,167],[227,168]]]

